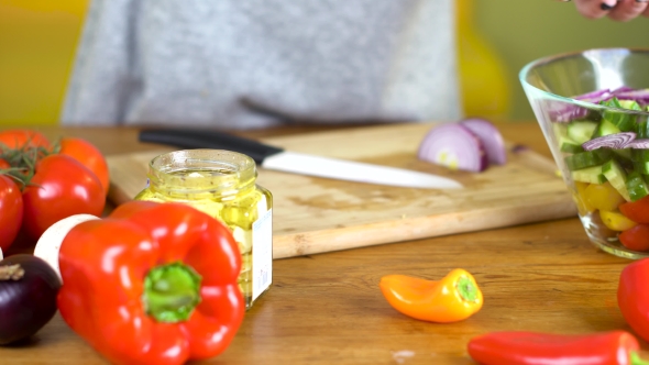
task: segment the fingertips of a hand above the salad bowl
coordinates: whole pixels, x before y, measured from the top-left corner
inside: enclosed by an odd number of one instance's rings
[[[649,0],[574,0],[574,4],[588,19],[608,16],[627,22],[639,15],[649,16]]]

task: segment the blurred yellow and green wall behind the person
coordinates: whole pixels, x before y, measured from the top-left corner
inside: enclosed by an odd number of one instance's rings
[[[586,20],[552,0],[458,1],[464,111],[534,120],[518,71],[594,47],[649,48],[649,19]],[[57,124],[89,0],[0,0],[0,125]]]

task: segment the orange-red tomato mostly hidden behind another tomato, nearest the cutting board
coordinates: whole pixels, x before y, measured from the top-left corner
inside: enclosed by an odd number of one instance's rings
[[[110,179],[108,175],[108,163],[99,150],[90,142],[75,137],[64,137],[61,141],[61,154],[68,155],[81,165],[88,167],[101,181],[105,195],[108,193]]]

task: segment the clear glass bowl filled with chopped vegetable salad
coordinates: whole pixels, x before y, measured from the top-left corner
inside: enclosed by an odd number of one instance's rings
[[[649,49],[544,57],[519,79],[590,240],[649,257]]]

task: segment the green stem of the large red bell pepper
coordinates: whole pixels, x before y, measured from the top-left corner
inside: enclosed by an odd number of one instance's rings
[[[185,321],[200,302],[201,277],[183,263],[152,268],[144,278],[142,302],[158,322]]]

